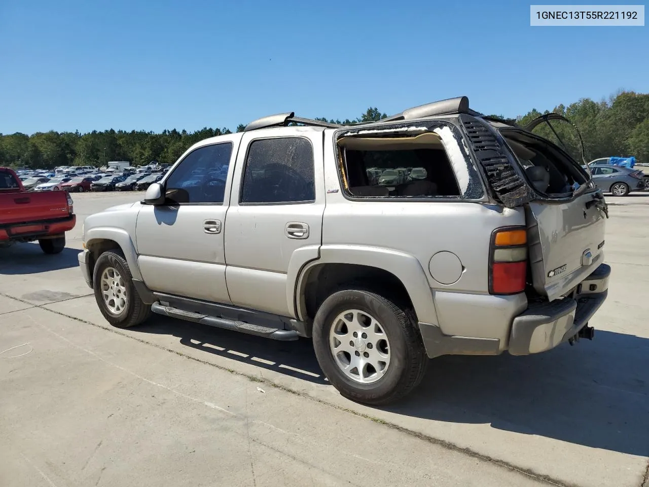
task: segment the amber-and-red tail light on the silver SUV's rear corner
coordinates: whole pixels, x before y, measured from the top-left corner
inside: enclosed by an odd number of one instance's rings
[[[498,229],[489,247],[489,293],[517,294],[525,290],[527,232],[521,227]]]

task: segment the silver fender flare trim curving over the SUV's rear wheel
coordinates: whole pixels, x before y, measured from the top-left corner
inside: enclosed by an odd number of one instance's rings
[[[383,269],[395,275],[406,288],[415,308],[417,319],[426,323],[438,323],[430,284],[426,279],[424,269],[415,256],[367,245],[321,245],[319,258],[314,257],[315,253],[313,252],[311,256],[312,260],[302,264],[299,274],[293,274],[289,269],[287,276],[287,292],[291,295],[290,309],[295,309],[296,316],[300,321],[304,321],[307,316],[303,295],[306,277],[310,270],[321,264],[357,264]],[[297,277],[295,281],[292,274]]]

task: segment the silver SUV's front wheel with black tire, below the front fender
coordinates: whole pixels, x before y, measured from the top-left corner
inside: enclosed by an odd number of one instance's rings
[[[117,328],[140,325],[149,318],[146,305],[133,286],[129,264],[121,251],[106,251],[99,256],[93,272],[95,301],[106,321]]]

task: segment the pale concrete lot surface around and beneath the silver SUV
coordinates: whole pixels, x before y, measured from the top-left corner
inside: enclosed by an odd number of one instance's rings
[[[161,316],[112,329],[67,247],[0,254],[0,486],[648,487],[649,194],[607,197],[593,342],[433,360],[389,408],[328,385],[308,340]]]

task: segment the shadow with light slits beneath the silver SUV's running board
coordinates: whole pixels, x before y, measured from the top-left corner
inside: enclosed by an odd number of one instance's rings
[[[175,336],[182,345],[195,350],[315,384],[329,384],[315,360],[312,342],[306,338],[280,342],[160,315],[151,316],[138,332]]]

